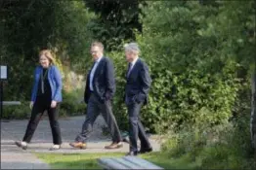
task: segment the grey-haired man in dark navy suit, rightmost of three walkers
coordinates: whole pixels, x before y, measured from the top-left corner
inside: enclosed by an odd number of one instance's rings
[[[129,62],[126,74],[125,104],[129,116],[130,152],[127,155],[149,153],[152,151],[149,138],[140,119],[140,110],[148,103],[151,79],[147,64],[139,58],[140,49],[136,43],[125,45],[125,55]],[[137,140],[141,141],[141,150],[138,151]]]

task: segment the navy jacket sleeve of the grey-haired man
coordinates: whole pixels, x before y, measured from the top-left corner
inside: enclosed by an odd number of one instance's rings
[[[142,88],[141,88],[141,91],[136,96],[135,100],[142,102],[147,97],[147,95],[149,93],[149,88],[151,85],[151,78],[149,75],[149,67],[145,63],[143,63],[142,69],[140,70],[139,77],[141,80]]]

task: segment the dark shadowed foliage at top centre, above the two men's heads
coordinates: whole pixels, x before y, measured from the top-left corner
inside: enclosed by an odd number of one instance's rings
[[[86,6],[99,17],[90,24],[94,38],[106,45],[107,51],[118,50],[123,40],[135,40],[133,29],[142,30],[139,21],[139,0],[84,0]]]

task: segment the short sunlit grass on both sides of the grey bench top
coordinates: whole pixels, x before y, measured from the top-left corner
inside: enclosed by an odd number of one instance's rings
[[[121,157],[124,153],[35,153],[37,157],[49,163],[53,169],[101,169],[97,164],[100,157]],[[150,162],[165,169],[192,168],[186,165],[183,159],[169,159],[163,153],[146,153],[139,155]]]

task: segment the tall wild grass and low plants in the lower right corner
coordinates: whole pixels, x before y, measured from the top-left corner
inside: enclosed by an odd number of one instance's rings
[[[188,125],[168,135],[162,152],[194,169],[255,169],[248,121],[242,116],[214,127]]]

